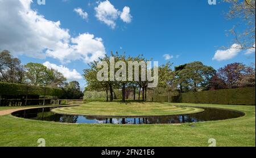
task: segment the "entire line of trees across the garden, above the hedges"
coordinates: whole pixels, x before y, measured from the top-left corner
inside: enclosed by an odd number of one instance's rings
[[[213,67],[206,66],[198,61],[176,66],[174,70],[171,69],[172,63],[159,66],[158,87],[155,88],[148,88],[148,80],[141,81],[141,67],[139,69],[139,81],[130,82],[127,79],[120,82],[110,80],[100,82],[97,80],[97,72],[100,70],[97,68],[97,64],[102,61],[109,63],[110,57],[114,57],[115,62],[149,61],[143,55],[126,57],[125,54],[112,53],[111,56],[106,55],[99,61],[91,63],[90,68],[84,70],[84,78],[88,83],[86,90],[105,91],[107,101],[113,101],[114,89],[121,89],[123,101],[130,93],[133,93],[134,100],[142,99],[146,101],[148,90],[162,93],[163,91],[188,92],[255,86],[255,66],[231,63],[216,71]],[[115,68],[114,71],[118,70],[118,68]],[[12,57],[7,50],[0,53],[0,82],[59,87],[63,89],[63,98],[65,99],[81,99],[83,96],[79,82],[72,81],[68,83],[63,74],[54,69],[47,69],[46,66],[40,63],[22,65],[20,60]],[[138,94],[138,97],[135,94]]]

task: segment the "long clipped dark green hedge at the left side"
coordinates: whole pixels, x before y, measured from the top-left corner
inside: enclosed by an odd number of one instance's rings
[[[0,82],[0,95],[46,95],[60,97],[62,89]]]

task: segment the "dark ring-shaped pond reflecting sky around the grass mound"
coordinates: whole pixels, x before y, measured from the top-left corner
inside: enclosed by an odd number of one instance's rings
[[[55,107],[56,108],[56,107]],[[35,119],[42,121],[53,121],[63,123],[113,123],[113,124],[156,124],[156,123],[186,123],[200,121],[214,121],[229,118],[242,117],[245,114],[236,110],[204,108],[201,113],[176,114],[171,116],[146,116],[146,117],[96,117],[82,115],[57,114],[51,112],[55,108],[36,108],[19,110],[12,113],[13,116]],[[201,108],[201,107],[200,107]]]

